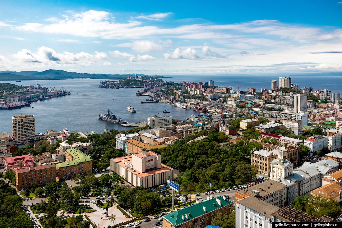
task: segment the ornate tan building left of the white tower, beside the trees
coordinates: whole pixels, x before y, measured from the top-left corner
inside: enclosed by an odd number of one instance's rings
[[[251,165],[255,166],[258,170],[258,174],[269,177],[271,172],[271,161],[273,161],[278,154],[276,150],[255,150],[252,152]]]

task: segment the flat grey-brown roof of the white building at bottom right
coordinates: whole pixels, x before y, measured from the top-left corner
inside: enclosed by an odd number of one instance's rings
[[[255,198],[254,196],[248,196],[238,200],[236,201],[236,204],[244,205],[268,218],[272,218],[272,213],[279,210],[279,207],[267,203],[261,199]]]

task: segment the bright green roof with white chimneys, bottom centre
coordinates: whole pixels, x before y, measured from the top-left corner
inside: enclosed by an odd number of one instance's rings
[[[224,200],[222,196],[218,196],[213,199],[205,200],[201,203],[196,203],[173,213],[164,215],[163,218],[170,222],[173,226],[178,226],[182,223],[188,222],[189,220],[203,216],[219,208],[223,208],[229,204],[233,205],[233,202],[229,201],[228,199]],[[204,211],[204,208],[206,211]]]

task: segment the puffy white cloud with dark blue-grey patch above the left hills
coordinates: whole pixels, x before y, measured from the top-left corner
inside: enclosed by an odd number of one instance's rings
[[[16,64],[40,64],[40,66],[51,65],[80,65],[88,66],[91,64],[97,64],[99,61],[107,58],[107,54],[104,52],[95,52],[95,54],[89,54],[86,52],[70,53],[63,52],[57,53],[52,48],[46,46],[38,47],[36,52],[32,52],[28,49],[22,49],[16,54],[13,54],[11,58],[16,61]]]

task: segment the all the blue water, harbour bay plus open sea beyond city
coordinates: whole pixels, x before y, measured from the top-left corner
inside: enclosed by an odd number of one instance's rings
[[[166,81],[173,82],[209,82],[214,80],[216,86],[232,86],[237,90],[248,90],[255,88],[271,88],[271,81],[279,76],[171,76]],[[293,84],[299,87],[313,87],[314,90],[329,89],[331,92],[342,93],[341,76],[291,76]],[[18,114],[34,115],[36,117],[36,133],[47,130],[63,130],[68,128],[69,132],[103,133],[104,128],[124,130],[127,127],[98,119],[99,114],[104,114],[107,109],[113,111],[114,115],[121,117],[129,123],[145,122],[147,117],[153,115],[172,116],[173,119],[186,120],[186,117],[198,112],[176,108],[168,104],[141,104],[147,96],[136,96],[137,89],[101,89],[98,88],[98,79],[68,79],[68,80],[40,80],[40,81],[0,81],[0,83],[13,83],[20,85],[34,85],[40,83],[46,87],[65,87],[70,91],[70,96],[56,97],[49,100],[38,101],[31,107],[14,110],[0,110],[0,132],[12,132],[12,116]],[[113,100],[115,98],[115,100]],[[131,105],[136,113],[127,111]],[[170,113],[163,113],[168,110]]]

